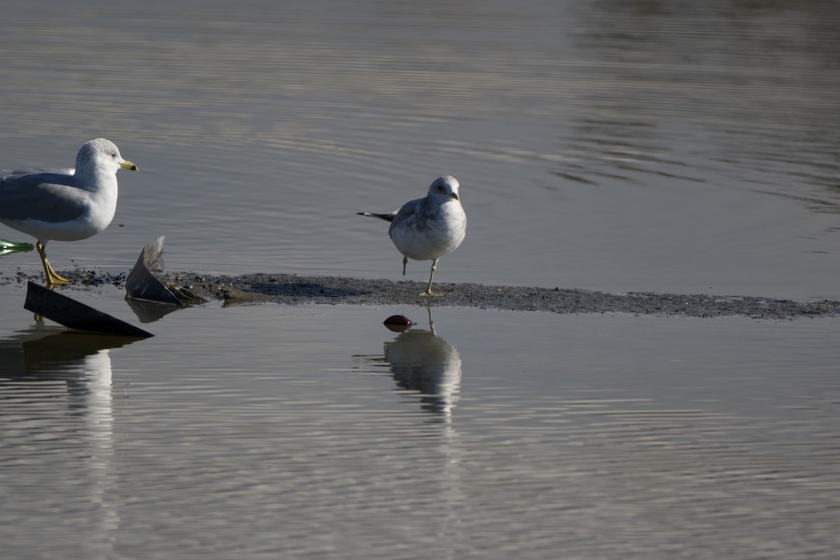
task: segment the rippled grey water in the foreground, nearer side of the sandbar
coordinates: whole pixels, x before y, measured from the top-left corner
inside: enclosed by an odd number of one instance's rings
[[[419,324],[387,331],[396,312]],[[14,319],[11,557],[840,546],[834,322],[207,306],[126,343]]]

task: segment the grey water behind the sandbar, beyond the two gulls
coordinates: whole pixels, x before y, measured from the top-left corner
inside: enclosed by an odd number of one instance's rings
[[[451,174],[470,232],[441,281],[840,296],[838,3],[10,10],[0,166],[106,136],[141,170],[59,270],[166,234],[176,270],[396,278],[354,212]]]

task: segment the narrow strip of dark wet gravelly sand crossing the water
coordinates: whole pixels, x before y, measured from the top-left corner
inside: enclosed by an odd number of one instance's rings
[[[114,285],[123,287],[125,274],[98,270],[66,273],[76,286]],[[250,303],[345,304],[364,306],[428,305],[477,307],[507,311],[548,311],[551,313],[629,313],[666,317],[745,316],[757,319],[796,319],[802,317],[840,317],[840,301],[792,301],[760,296],[679,295],[653,292],[612,294],[565,288],[501,286],[483,284],[435,283],[442,296],[424,297],[423,282],[366,280],[338,276],[282,274],[200,275],[185,272],[163,273],[161,279],[180,285],[197,296],[223,301],[226,305]],[[0,285],[33,280],[43,283],[43,275],[18,272],[0,275]],[[75,288],[78,289],[78,288]],[[72,292],[73,285],[61,290]],[[71,293],[67,295],[71,296]]]

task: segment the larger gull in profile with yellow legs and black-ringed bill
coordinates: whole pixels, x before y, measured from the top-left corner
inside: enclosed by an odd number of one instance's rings
[[[121,168],[138,170],[116,145],[100,138],[81,146],[75,170],[0,170],[0,222],[38,240],[47,285],[70,282],[50,266],[47,242],[78,241],[108,228],[117,210]]]

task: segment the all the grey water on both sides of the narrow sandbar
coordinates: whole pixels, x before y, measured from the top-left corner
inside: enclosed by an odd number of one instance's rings
[[[837,299],[837,3],[9,7],[0,167],[112,139],[56,269]],[[0,237],[27,239],[5,227]],[[39,270],[34,253],[0,274]],[[412,263],[407,278],[428,277]],[[838,547],[832,320],[208,306],[142,342],[0,296],[4,557],[814,557]],[[116,288],[68,292],[136,323]],[[381,321],[420,322],[399,338]],[[387,350],[386,350],[387,347]],[[418,351],[418,348],[420,349]],[[420,357],[417,357],[417,354]],[[390,360],[390,361],[389,361]]]

